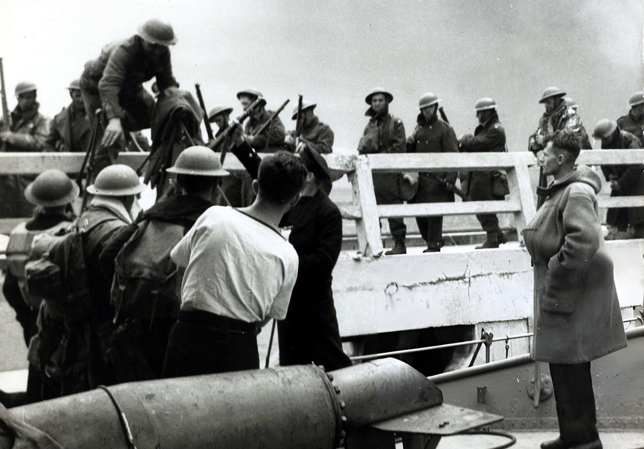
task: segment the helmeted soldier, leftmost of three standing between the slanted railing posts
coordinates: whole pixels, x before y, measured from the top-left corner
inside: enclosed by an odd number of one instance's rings
[[[389,104],[392,100],[393,95],[383,88],[374,88],[366,96],[365,102],[370,105],[370,108],[366,110],[365,115],[370,119],[358,143],[359,154],[404,153],[406,151],[403,120],[393,117],[389,113]],[[377,204],[403,204],[399,189],[399,182],[403,177],[406,178],[404,182],[415,182],[410,179],[408,174],[378,173],[374,175]],[[394,246],[384,254],[406,254],[407,227],[403,218],[389,218],[388,222]]]

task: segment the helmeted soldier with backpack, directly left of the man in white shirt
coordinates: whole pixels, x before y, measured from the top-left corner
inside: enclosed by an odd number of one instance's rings
[[[109,359],[117,383],[161,377],[181,280],[170,251],[209,207],[219,177],[227,176],[209,148],[186,148],[167,169],[185,193],[162,198],[135,224],[122,227],[100,253],[111,289],[117,329]]]

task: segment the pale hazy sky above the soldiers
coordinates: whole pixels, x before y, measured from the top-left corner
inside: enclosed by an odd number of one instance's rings
[[[15,84],[30,80],[52,117],[84,62],[158,17],[178,36],[176,78],[193,92],[200,82],[208,108],[225,103],[236,115],[235,93],[254,86],[269,108],[291,99],[281,119],[292,129],[301,93],[334,129],[338,152],[355,151],[374,86],[393,93],[390,111],[408,133],[426,91],[442,99],[459,136],[475,128],[475,101],[491,96],[511,150],[526,149],[547,86],[580,103],[589,129],[625,113],[644,86],[636,0],[0,0],[0,17],[10,109]]]

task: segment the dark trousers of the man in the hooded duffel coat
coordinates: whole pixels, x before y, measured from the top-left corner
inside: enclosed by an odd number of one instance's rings
[[[550,363],[561,439],[572,446],[599,438],[591,363]]]

